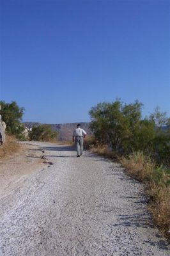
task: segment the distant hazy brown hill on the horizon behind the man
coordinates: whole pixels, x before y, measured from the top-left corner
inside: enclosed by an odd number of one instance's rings
[[[23,123],[27,128],[33,128],[40,123],[37,122],[24,122]],[[77,123],[68,123],[68,124],[50,124],[52,130],[58,132],[58,140],[72,140],[73,130],[77,127]],[[89,129],[89,123],[81,123],[81,128],[84,129],[87,134],[91,134],[91,130]]]

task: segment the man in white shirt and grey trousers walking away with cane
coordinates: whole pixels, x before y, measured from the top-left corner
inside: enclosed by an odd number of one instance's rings
[[[73,131],[73,142],[75,141],[75,145],[77,148],[77,157],[80,157],[83,152],[83,142],[86,137],[86,132],[81,129],[81,124],[77,124],[77,129]]]

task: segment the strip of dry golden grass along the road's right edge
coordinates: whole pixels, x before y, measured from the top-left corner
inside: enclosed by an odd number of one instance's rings
[[[156,225],[170,240],[170,173],[163,166],[156,166],[143,152],[122,157],[121,164],[132,177],[146,184],[146,194],[150,197],[148,209]]]

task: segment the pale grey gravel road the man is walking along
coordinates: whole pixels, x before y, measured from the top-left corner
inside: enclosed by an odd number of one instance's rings
[[[44,164],[1,196],[0,255],[170,255],[146,211],[143,186],[120,164],[36,143]],[[36,149],[37,150],[37,149]]]

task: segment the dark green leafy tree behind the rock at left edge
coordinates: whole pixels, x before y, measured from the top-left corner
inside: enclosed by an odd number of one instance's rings
[[[11,103],[0,101],[0,105],[2,119],[6,123],[6,132],[20,138],[24,131],[24,125],[21,121],[25,109],[20,108],[15,101]]]

